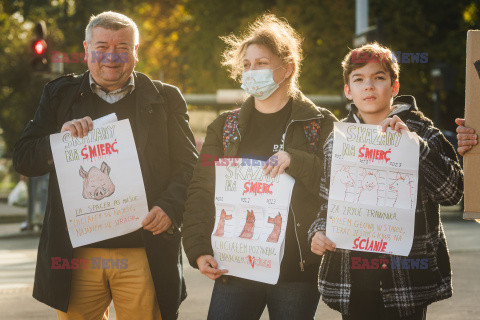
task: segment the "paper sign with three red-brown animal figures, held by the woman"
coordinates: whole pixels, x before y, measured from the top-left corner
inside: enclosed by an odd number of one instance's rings
[[[215,163],[214,258],[240,278],[275,284],[285,247],[295,180],[265,176],[264,162],[222,158]]]

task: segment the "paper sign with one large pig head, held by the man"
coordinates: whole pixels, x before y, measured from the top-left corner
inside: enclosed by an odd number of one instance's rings
[[[53,134],[50,144],[74,248],[141,227],[148,206],[128,120],[94,125],[82,139]]]

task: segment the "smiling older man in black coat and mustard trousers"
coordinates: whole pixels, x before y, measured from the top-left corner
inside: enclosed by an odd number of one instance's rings
[[[84,42],[89,72],[48,83],[15,146],[18,172],[50,173],[33,296],[57,309],[59,319],[105,319],[112,299],[117,319],[175,319],[186,296],[180,227],[197,152],[180,91],[133,71],[138,46],[130,18],[114,12],[92,17]],[[92,119],[112,112],[132,124],[150,212],[135,232],[73,249],[49,135],[69,130],[82,138]],[[99,255],[128,259],[128,267],[53,268],[58,258]]]

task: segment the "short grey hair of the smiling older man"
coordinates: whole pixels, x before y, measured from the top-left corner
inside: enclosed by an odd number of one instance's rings
[[[85,41],[90,44],[92,40],[92,33],[95,27],[102,27],[108,30],[120,30],[122,28],[132,28],[133,30],[133,40],[134,45],[136,46],[139,43],[139,34],[138,28],[135,22],[129,17],[113,12],[105,11],[99,15],[92,16],[90,22],[88,22],[87,27],[85,28]]]

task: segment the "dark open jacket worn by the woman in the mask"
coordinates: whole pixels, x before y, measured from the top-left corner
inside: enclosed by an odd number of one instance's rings
[[[253,97],[248,98],[240,110],[228,111],[215,119],[207,130],[205,143],[194,176],[188,188],[185,210],[183,245],[188,260],[197,267],[196,260],[202,255],[212,255],[211,234],[215,224],[215,167],[205,162],[222,156],[235,157],[242,136],[247,130],[249,118],[254,108]],[[238,122],[232,117],[238,115]],[[314,136],[319,148],[312,149],[306,136],[304,125],[315,121],[316,126],[309,132]],[[300,260],[298,268],[304,271],[308,264],[318,265],[320,259],[310,251],[307,231],[320,207],[318,188],[323,175],[323,153],[321,146],[332,131],[335,116],[326,109],[317,108],[302,93],[292,101],[292,112],[285,131],[284,149],[291,156],[286,173],[295,178],[290,210],[294,219]],[[261,138],[261,137],[259,137]],[[202,161],[203,160],[203,161]]]

